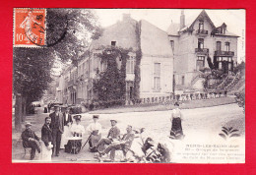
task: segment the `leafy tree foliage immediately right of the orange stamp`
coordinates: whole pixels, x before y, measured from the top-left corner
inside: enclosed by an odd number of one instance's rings
[[[97,17],[89,9],[48,9],[47,47],[53,56],[62,61],[71,60],[77,65],[92,39],[102,30]]]

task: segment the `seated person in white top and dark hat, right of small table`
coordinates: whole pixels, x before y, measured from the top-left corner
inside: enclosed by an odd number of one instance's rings
[[[96,145],[98,141],[101,139],[101,125],[97,122],[98,115],[93,116],[94,123],[91,123],[87,127],[88,133],[91,135],[89,140],[89,146],[91,151],[96,152]]]

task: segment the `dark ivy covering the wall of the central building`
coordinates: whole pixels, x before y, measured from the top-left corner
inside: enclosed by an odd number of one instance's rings
[[[128,53],[132,49],[123,49],[120,47],[107,46],[102,53],[98,54],[101,61],[107,65],[105,72],[99,74],[99,79],[94,83],[94,89],[97,91],[98,100],[109,102],[108,105],[114,105],[114,101],[124,102],[126,91],[126,60]],[[120,70],[117,62],[121,61]]]

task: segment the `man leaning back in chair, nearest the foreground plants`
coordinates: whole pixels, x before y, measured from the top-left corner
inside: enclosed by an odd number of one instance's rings
[[[110,159],[111,161],[114,161],[115,157],[115,150],[122,150],[124,155],[126,156],[126,153],[132,146],[133,140],[134,140],[134,134],[132,133],[133,129],[132,126],[128,125],[126,128],[127,134],[123,136],[121,141],[113,142],[112,145],[108,146],[104,151],[98,151],[100,155],[104,155],[110,151]]]

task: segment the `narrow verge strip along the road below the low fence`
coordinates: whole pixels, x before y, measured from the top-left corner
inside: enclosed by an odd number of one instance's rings
[[[224,104],[235,103],[235,99],[232,96],[211,98],[211,99],[200,99],[191,101],[181,101],[181,109],[194,109],[202,107],[211,107]],[[174,106],[172,104],[140,104],[140,105],[129,105],[120,106],[114,108],[105,108],[89,112],[90,114],[116,114],[116,113],[127,113],[127,112],[149,112],[149,111],[164,111],[171,110]]]

